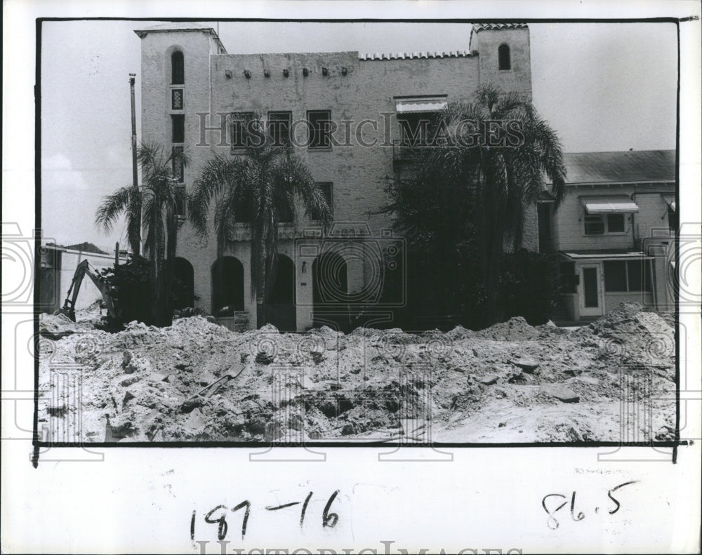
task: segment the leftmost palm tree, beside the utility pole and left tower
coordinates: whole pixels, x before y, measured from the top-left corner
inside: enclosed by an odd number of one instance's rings
[[[184,206],[186,200],[176,168],[185,167],[188,160],[184,152],[173,150],[166,154],[160,145],[148,143],[137,150],[137,161],[142,185],[138,189],[120,187],[106,196],[95,215],[95,223],[109,231],[123,213],[127,225],[140,216],[146,236],[144,253],[150,267],[152,322],[168,326],[173,316],[173,265],[181,224],[178,206]]]

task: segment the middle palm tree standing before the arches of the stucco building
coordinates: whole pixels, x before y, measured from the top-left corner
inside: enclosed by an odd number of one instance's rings
[[[256,297],[258,326],[265,320],[264,303],[275,276],[278,224],[283,213],[294,213],[296,198],[305,214],[315,214],[323,232],[331,222],[331,208],[310,170],[293,154],[289,142],[274,140],[265,117],[255,112],[242,125],[246,147],[239,156],[215,155],[204,164],[189,201],[189,218],[202,238],[208,234],[208,212],[215,202],[214,230],[218,257],[234,242],[234,225],[251,232],[252,297]]]

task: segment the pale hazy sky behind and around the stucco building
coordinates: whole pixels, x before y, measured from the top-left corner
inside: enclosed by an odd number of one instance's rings
[[[41,42],[41,225],[58,243],[126,245],[105,234],[102,198],[131,184],[128,74],[133,29],[157,21],[44,22]],[[201,22],[206,23],[206,22]],[[466,23],[211,22],[230,54],[445,51],[468,48]],[[675,149],[677,31],[671,23],[531,23],[534,105],[564,152]]]

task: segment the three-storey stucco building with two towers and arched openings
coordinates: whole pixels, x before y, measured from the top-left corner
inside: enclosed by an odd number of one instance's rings
[[[313,322],[343,327],[351,313],[402,305],[402,239],[377,212],[387,201],[386,176],[402,171],[408,133],[411,139],[420,116],[470,100],[488,83],[531,98],[529,28],[521,24],[467,25],[465,50],[451,52],[237,55],[209,27],[164,24],[136,34],[141,139],[187,149],[191,162],[178,168],[186,190],[214,154],[241,154],[230,114],[258,110],[280,122],[277,129],[326,194],[334,220],[328,237],[299,206],[280,224],[267,319],[282,329],[305,330]],[[538,250],[536,207],[526,227],[525,246]],[[213,313],[232,307],[237,321],[253,327],[245,225],[237,234],[240,241],[218,259],[213,237],[199,240],[185,222],[178,275],[190,284],[194,306]]]

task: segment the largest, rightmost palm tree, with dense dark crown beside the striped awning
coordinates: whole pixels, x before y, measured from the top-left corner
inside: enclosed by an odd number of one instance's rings
[[[491,121],[501,122],[501,128]],[[566,170],[560,142],[529,100],[494,86],[479,88],[473,102],[447,105],[433,123],[443,140],[422,149],[411,187],[419,183],[420,189],[437,195],[444,210],[438,235],[444,240],[463,239],[456,234],[470,214],[479,245],[487,323],[494,323],[505,244],[514,250],[522,246],[525,208],[534,204],[545,178],[556,202],[562,199]],[[491,142],[486,141],[486,128],[495,130]],[[512,130],[510,136],[506,129]],[[406,228],[418,224],[411,211],[399,206],[403,194],[411,194],[408,183],[390,187],[394,202],[385,208],[399,213]]]

